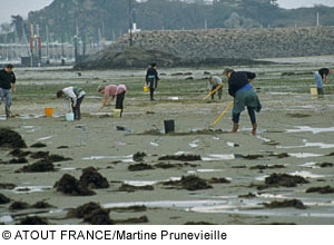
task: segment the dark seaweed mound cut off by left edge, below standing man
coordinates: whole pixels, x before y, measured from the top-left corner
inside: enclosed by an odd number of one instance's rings
[[[19,133],[0,128],[0,147],[27,148],[27,145]]]

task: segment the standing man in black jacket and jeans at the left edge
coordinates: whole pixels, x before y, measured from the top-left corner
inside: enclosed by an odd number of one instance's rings
[[[16,75],[12,71],[13,66],[11,63],[7,65],[4,69],[0,70],[0,105],[2,100],[6,100],[4,104],[4,114],[6,117],[9,118],[11,116],[10,107],[11,107],[11,92],[17,92],[16,86]]]

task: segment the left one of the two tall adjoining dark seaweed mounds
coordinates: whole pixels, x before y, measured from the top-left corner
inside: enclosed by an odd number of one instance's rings
[[[90,190],[87,186],[69,174],[65,174],[53,187],[57,188],[57,192],[72,196],[95,195],[95,192]]]

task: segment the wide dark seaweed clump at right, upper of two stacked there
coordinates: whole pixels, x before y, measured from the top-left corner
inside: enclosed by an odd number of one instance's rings
[[[307,184],[308,182],[301,176],[292,176],[287,174],[272,174],[265,178],[265,184],[257,187],[257,189],[264,189],[268,187],[296,187],[297,184]]]

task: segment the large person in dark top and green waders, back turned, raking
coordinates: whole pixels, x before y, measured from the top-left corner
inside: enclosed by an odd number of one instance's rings
[[[234,71],[230,68],[226,68],[223,74],[228,79],[228,94],[234,97],[232,133],[237,133],[240,112],[247,107],[253,126],[252,134],[255,135],[257,129],[255,111],[259,112],[262,108],[250,85],[256,75],[249,71]]]

